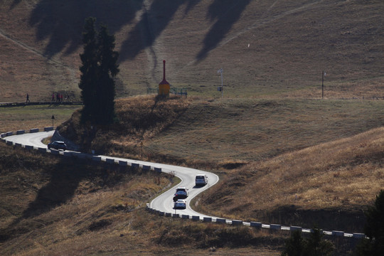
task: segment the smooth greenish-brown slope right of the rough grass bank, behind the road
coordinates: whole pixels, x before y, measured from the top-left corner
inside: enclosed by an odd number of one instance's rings
[[[380,127],[383,114],[383,101],[196,100],[144,148],[190,161],[255,161]]]

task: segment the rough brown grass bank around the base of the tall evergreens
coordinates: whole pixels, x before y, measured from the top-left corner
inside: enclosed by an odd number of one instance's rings
[[[189,100],[170,96],[167,100],[151,96],[137,96],[116,101],[118,122],[112,127],[90,127],[80,125],[80,112],[58,127],[60,134],[82,145],[83,151],[95,150],[98,154],[114,154],[137,158],[140,143],[146,143],[166,130],[183,112]],[[93,137],[85,134],[95,133]]]

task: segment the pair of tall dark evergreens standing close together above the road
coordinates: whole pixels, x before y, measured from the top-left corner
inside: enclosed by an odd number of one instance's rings
[[[81,98],[84,104],[82,122],[91,124],[111,124],[114,120],[114,78],[119,73],[114,51],[114,36],[107,26],[95,30],[95,18],[86,18],[82,43],[84,53],[80,54]]]

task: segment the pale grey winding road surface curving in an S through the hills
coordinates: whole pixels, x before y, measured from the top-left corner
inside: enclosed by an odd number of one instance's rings
[[[6,140],[9,142],[14,142],[14,143],[28,145],[28,146],[34,146],[37,148],[47,148],[47,145],[43,144],[43,142],[41,141],[46,137],[51,137],[53,133],[54,131],[26,133],[26,134],[13,135],[13,136],[6,137]],[[168,174],[174,174],[175,176],[181,179],[181,183],[178,183],[178,185],[174,186],[173,188],[170,188],[168,191],[154,198],[154,200],[151,201],[150,203],[150,208],[163,211],[164,213],[196,215],[196,216],[199,216],[200,218],[203,218],[203,217],[210,217],[213,219],[216,218],[214,216],[208,216],[208,215],[203,215],[201,213],[197,213],[195,210],[191,208],[191,206],[189,206],[189,203],[191,202],[192,198],[198,195],[198,193],[201,193],[206,189],[210,188],[210,186],[215,185],[215,183],[217,183],[219,180],[217,175],[212,174],[208,171],[201,171],[198,169],[191,169],[191,168],[181,167],[181,166],[173,166],[169,164],[156,164],[148,161],[122,159],[118,157],[102,156],[102,155],[100,155],[100,157],[101,159],[108,158],[108,159],[114,159],[116,161],[128,161],[129,163],[132,163],[132,164],[139,164],[139,165],[161,168],[161,171]],[[195,186],[196,174],[206,174],[206,176],[208,176],[208,184],[206,186],[196,187]],[[174,193],[176,192],[176,188],[178,186],[183,186],[188,189],[188,198],[186,198],[187,208],[185,210],[174,209],[173,198],[174,198]]]

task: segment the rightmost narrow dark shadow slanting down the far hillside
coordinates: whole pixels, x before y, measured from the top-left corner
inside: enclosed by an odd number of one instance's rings
[[[196,56],[197,60],[203,60],[210,50],[218,46],[220,41],[222,41],[228,31],[230,31],[233,24],[238,21],[242,11],[245,10],[250,1],[251,0],[215,0],[209,6],[208,18],[210,18],[210,21],[216,21],[210,28],[206,38],[204,38],[204,47]]]

